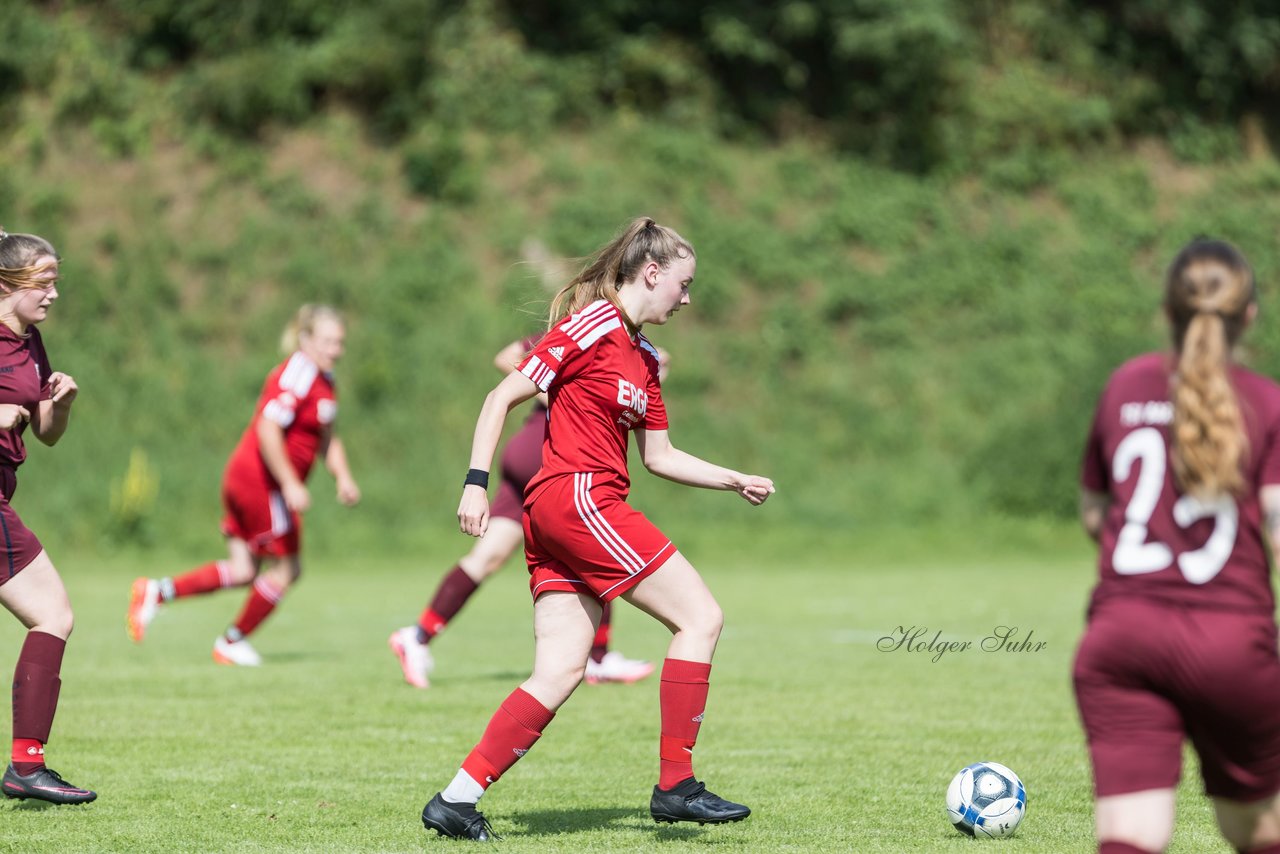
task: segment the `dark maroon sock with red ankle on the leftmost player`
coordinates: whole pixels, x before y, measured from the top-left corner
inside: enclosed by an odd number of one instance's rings
[[[44,745],[54,726],[58,691],[63,681],[63,652],[67,641],[44,631],[28,631],[13,673],[13,766],[29,775],[45,766]],[[32,743],[41,748],[31,753]],[[33,761],[35,759],[35,761]]]

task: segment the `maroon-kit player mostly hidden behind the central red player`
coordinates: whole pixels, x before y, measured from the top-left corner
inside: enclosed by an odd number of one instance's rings
[[[494,356],[494,366],[503,374],[509,374],[540,338],[541,335],[531,335],[507,344]],[[663,380],[668,357],[662,348],[658,348],[658,379]],[[525,487],[543,463],[543,438],[547,435],[545,397],[545,394],[538,396],[524,426],[507,442],[502,453],[502,483],[489,511],[489,529],[485,535],[477,539],[475,547],[458,561],[457,566],[440,579],[417,625],[397,629],[388,640],[399,661],[404,681],[415,688],[426,688],[428,677],[435,668],[435,661],[428,647],[431,639],[444,630],[480,585],[498,572],[525,543],[525,529],[520,520],[524,513]],[[618,650],[609,649],[612,611],[613,608],[605,602],[600,612],[600,627],[591,643],[591,656],[586,661],[588,684],[636,682],[653,672],[653,663],[627,658]]]

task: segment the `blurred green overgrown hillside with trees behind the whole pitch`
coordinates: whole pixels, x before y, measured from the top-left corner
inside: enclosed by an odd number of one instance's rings
[[[653,330],[673,437],[773,475],[769,524],[1069,516],[1098,387],[1164,343],[1196,234],[1254,262],[1280,374],[1265,4],[8,3],[0,44],[0,223],[63,251],[45,335],[82,387],[19,490],[50,540],[214,542],[307,300],[351,316],[366,492],[328,525],[315,478],[315,536],[448,528],[489,359],[540,323],[530,241],[579,256],[641,213],[699,251],[695,310]],[[689,528],[762,519],[636,488]]]

